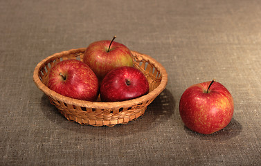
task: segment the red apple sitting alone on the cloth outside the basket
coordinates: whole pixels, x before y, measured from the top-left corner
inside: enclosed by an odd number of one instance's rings
[[[188,129],[210,134],[226,127],[234,112],[231,93],[219,82],[190,86],[184,91],[179,102],[181,119]]]

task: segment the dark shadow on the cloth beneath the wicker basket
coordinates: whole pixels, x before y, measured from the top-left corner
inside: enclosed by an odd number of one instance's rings
[[[147,107],[143,116],[127,124],[116,124],[114,127],[83,126],[77,122],[70,122],[60,114],[55,106],[50,104],[46,95],[42,96],[41,108],[48,120],[60,125],[64,129],[98,136],[115,137],[153,129],[156,125],[171,117],[172,113],[174,113],[175,103],[172,93],[168,89],[165,89]]]

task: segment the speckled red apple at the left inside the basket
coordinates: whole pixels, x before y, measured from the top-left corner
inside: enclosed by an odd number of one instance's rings
[[[67,59],[51,68],[48,88],[69,98],[95,101],[99,87],[98,78],[87,64]]]

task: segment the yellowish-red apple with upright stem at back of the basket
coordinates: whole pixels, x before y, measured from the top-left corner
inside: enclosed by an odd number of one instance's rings
[[[83,62],[96,73],[101,82],[109,71],[120,66],[133,66],[132,53],[125,45],[102,40],[90,44],[84,52]]]

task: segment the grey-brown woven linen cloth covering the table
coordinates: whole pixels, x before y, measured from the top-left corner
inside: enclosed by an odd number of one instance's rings
[[[260,165],[261,1],[0,1],[0,165]],[[114,127],[69,122],[33,82],[42,59],[111,39],[168,72],[145,114]],[[188,86],[233,95],[227,127],[190,131]]]

